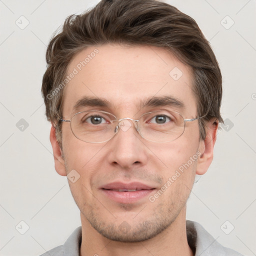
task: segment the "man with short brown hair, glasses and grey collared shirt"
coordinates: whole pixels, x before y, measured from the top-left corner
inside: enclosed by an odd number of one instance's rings
[[[102,0],[65,20],[46,59],[55,169],[81,227],[43,255],[241,255],[185,219],[222,122],[221,73],[196,22],[154,0]]]

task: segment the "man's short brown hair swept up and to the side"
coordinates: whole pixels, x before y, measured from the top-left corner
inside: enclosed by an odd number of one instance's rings
[[[157,0],[101,0],[92,9],[65,19],[62,30],[51,38],[47,69],[42,79],[46,116],[56,125],[61,141],[59,89],[68,64],[76,53],[93,45],[124,43],[164,47],[193,70],[200,139],[205,139],[205,120],[220,115],[222,78],[215,55],[194,19],[176,7]],[[54,92],[54,93],[53,93]],[[49,96],[50,95],[50,96]]]

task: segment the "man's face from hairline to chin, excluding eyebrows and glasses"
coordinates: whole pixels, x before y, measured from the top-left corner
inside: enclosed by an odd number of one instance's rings
[[[98,53],[80,66],[95,48]],[[185,119],[196,117],[191,69],[163,48],[112,44],[88,47],[74,56],[67,74],[74,68],[78,73],[64,88],[64,119],[92,109],[110,112],[117,119],[136,119],[157,109],[175,110]],[[184,107],[168,104],[140,108],[141,101],[164,96],[178,99]],[[83,97],[105,99],[110,105],[80,105],[74,109]],[[155,236],[177,216],[185,216],[202,146],[198,120],[186,122],[184,133],[165,143],[145,140],[133,124],[125,131],[119,129],[107,142],[88,143],[76,138],[70,123],[63,122],[65,170],[69,173],[74,169],[80,175],[74,183],[68,182],[82,223],[90,223],[103,236],[119,241]],[[119,191],[122,186],[123,190],[145,189]]]

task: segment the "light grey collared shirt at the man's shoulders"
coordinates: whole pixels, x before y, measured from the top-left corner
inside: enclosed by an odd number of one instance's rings
[[[242,256],[242,254],[219,244],[199,223],[186,220],[187,241],[194,256]],[[40,256],[79,256],[81,226],[77,227],[63,245]],[[95,252],[96,254],[96,252]]]

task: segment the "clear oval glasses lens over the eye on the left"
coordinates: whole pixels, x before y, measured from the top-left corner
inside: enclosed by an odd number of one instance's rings
[[[82,141],[104,142],[115,134],[115,124],[111,122],[112,120],[115,120],[115,116],[104,111],[83,111],[73,115],[71,129]]]

